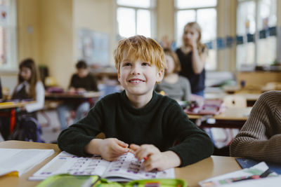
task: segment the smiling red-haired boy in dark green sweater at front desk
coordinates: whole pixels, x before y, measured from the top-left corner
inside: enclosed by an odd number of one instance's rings
[[[115,50],[115,67],[124,90],[103,97],[85,118],[60,132],[62,151],[111,161],[130,148],[138,160],[147,158],[147,171],[190,165],[213,153],[211,139],[181,106],[154,91],[166,67],[156,41],[145,36],[122,39]],[[100,132],[105,139],[96,139]]]

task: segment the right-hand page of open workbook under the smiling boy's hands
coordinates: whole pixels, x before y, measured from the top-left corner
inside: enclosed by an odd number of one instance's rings
[[[110,162],[110,165],[103,174],[103,178],[107,178],[110,181],[175,178],[174,168],[164,171],[154,170],[152,172],[145,172],[142,162],[138,161],[133,153],[126,153],[118,160]]]

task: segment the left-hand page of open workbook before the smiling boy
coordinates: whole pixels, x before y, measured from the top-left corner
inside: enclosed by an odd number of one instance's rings
[[[78,157],[65,151],[41,167],[30,176],[30,180],[44,180],[54,174],[99,175],[102,176],[110,162],[103,160],[100,155],[93,157]]]

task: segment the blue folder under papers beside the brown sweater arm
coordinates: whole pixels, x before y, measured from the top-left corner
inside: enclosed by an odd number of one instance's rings
[[[260,160],[251,160],[247,158],[235,158],[235,159],[242,168],[252,167],[256,164],[259,164],[259,162],[262,162]],[[266,165],[268,165],[271,171],[276,172],[277,174],[281,174],[281,164],[266,162]]]

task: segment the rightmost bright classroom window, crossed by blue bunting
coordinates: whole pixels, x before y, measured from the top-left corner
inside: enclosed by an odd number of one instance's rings
[[[277,1],[240,0],[237,6],[237,69],[273,64],[277,56]]]

